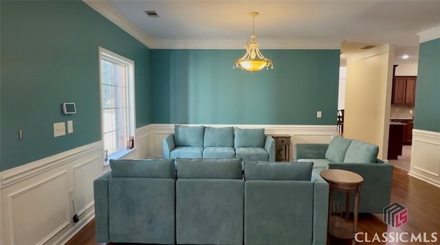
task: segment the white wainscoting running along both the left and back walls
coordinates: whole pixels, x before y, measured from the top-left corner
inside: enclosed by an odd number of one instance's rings
[[[328,143],[336,134],[336,126],[205,126],[265,128],[267,135],[292,136],[291,150],[295,143]],[[124,159],[161,158],[162,139],[174,127],[137,128],[135,150]],[[0,172],[0,244],[64,244],[78,233],[95,215],[93,181],[110,169],[102,165],[102,151],[102,141],[98,141]],[[78,223],[72,220],[71,199]]]

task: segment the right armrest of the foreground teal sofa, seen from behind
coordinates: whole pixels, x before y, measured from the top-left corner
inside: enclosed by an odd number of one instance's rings
[[[327,222],[329,218],[329,183],[318,172],[313,172],[314,182],[314,235],[312,244],[327,243]]]

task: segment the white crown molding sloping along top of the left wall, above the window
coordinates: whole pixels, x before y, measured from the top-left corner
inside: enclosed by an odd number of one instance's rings
[[[131,21],[126,19],[107,1],[83,0],[83,2],[89,5],[90,8],[96,10],[96,12],[102,14],[105,18],[109,19],[109,21],[113,22],[115,25],[118,25],[118,27],[133,36],[133,38],[139,40],[146,47],[149,48],[153,46],[154,40],[152,38],[146,36],[142,30],[133,25]]]

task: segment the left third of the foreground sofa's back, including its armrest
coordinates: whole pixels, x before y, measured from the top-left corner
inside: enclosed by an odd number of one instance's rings
[[[110,160],[94,180],[97,242],[175,243],[174,160]]]

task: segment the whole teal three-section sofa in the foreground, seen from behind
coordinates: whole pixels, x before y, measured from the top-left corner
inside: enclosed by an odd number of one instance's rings
[[[325,244],[329,185],[313,163],[111,160],[94,181],[96,240]],[[176,170],[177,169],[177,170]]]

